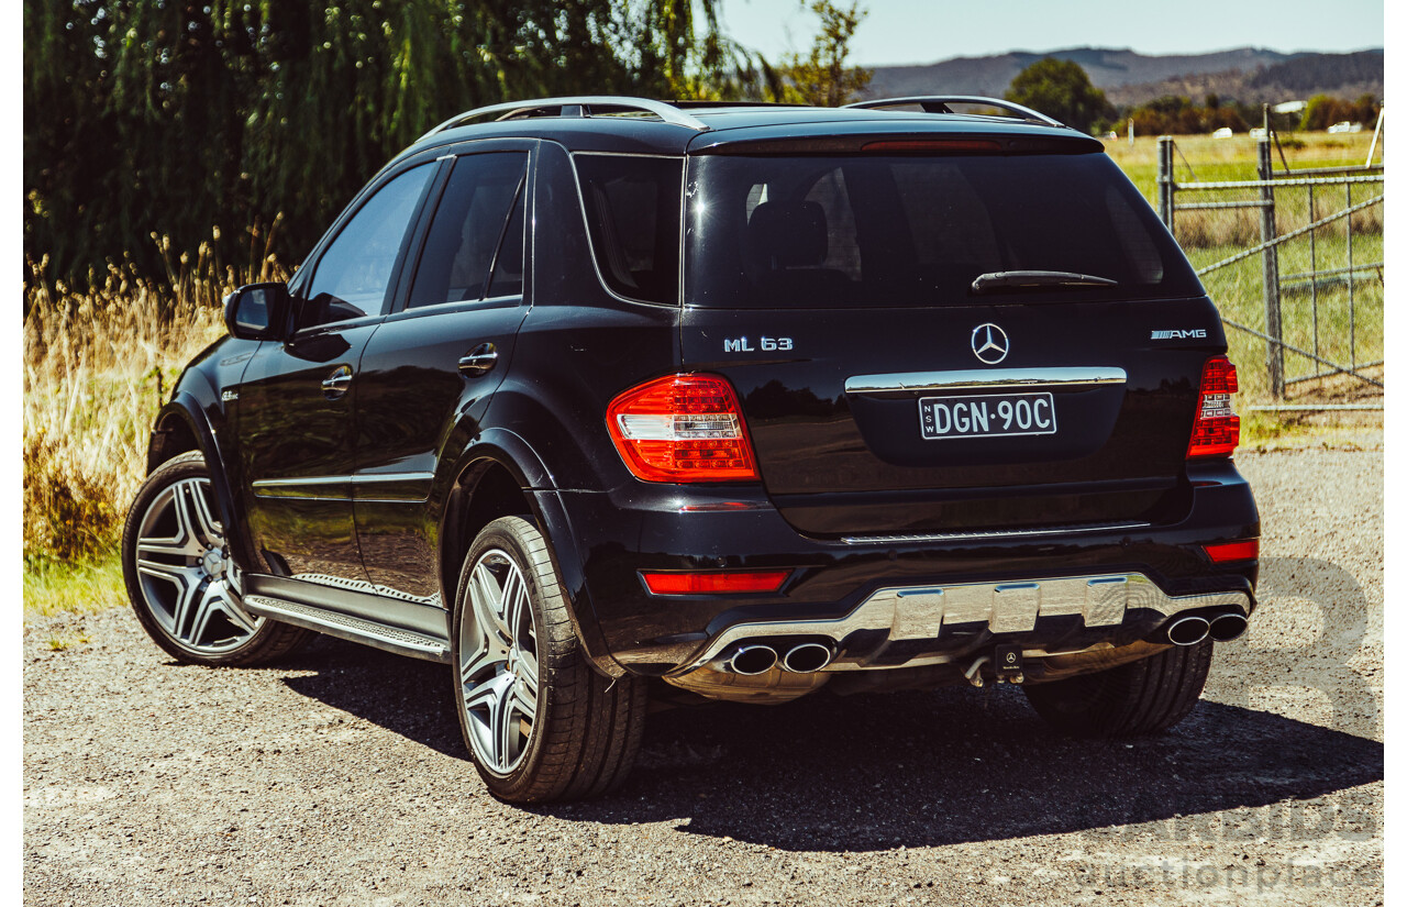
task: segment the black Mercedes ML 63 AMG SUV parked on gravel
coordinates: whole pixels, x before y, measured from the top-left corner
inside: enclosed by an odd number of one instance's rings
[[[1140,734],[1255,605],[1217,309],[1099,142],[974,98],[552,98],[431,131],[227,300],[124,533],[182,661],[440,661],[490,790],[651,699],[1020,683]]]

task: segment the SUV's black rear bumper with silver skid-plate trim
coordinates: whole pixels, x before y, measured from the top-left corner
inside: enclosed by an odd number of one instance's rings
[[[1251,488],[1230,461],[1189,464],[1188,478],[1192,506],[1175,525],[862,540],[802,536],[758,488],[632,482],[559,495],[582,565],[578,613],[625,671],[678,676],[758,626],[829,636],[844,671],[937,664],[996,643],[1123,645],[1199,607],[1249,615],[1256,562],[1213,564],[1202,546],[1259,536]],[[639,575],[723,568],[792,574],[777,593],[741,596],[656,596]]]

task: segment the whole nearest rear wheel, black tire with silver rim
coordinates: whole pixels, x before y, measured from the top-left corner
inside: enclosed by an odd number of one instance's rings
[[[525,600],[515,592],[508,561],[522,578]],[[505,591],[514,591],[522,605],[507,603]],[[501,623],[480,616],[495,607],[494,592]],[[530,624],[523,619],[529,615]],[[492,626],[483,630],[484,624]],[[615,790],[625,780],[644,731],[646,686],[637,678],[611,679],[592,669],[573,630],[547,543],[528,520],[497,519],[474,539],[460,570],[450,636],[460,731],[494,796],[515,803],[577,800]],[[528,685],[529,655],[536,685],[530,719],[519,705],[525,695],[512,692]],[[495,730],[499,721],[507,738]]]

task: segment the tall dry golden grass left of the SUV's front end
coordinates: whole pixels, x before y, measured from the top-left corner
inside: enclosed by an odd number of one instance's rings
[[[166,250],[163,247],[163,250]],[[148,433],[180,370],[224,332],[219,300],[260,277],[203,246],[165,280],[111,267],[89,290],[31,263],[24,316],[24,558],[27,574],[104,564],[146,465]],[[111,578],[111,570],[100,570]],[[25,598],[41,595],[25,581]]]

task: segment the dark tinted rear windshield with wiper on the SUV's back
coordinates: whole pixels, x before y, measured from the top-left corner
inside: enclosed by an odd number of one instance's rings
[[[1202,294],[1176,243],[1104,155],[716,155],[689,166],[687,304],[892,307]],[[981,274],[1023,270],[1119,285],[972,292]]]

